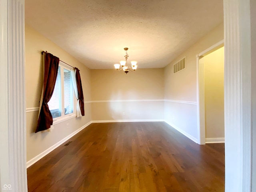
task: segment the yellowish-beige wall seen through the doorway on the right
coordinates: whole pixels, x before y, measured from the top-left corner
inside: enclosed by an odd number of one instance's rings
[[[224,47],[199,62],[204,64],[205,138],[224,138]]]

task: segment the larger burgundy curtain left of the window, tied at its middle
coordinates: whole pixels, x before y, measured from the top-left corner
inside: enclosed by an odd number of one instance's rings
[[[50,53],[44,54],[44,88],[42,107],[38,117],[36,132],[47,130],[52,125],[52,114],[48,107],[48,102],[52,97],[56,78],[58,74],[60,59]]]

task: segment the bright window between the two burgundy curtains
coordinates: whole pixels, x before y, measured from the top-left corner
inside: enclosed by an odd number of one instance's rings
[[[71,70],[66,64],[60,62],[54,92],[48,102],[54,121],[58,118],[66,119],[73,114],[74,93]]]

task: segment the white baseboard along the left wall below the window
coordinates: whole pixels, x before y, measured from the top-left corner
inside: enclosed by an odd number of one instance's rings
[[[62,140],[60,140],[59,142],[57,142],[56,144],[54,144],[53,146],[51,146],[50,148],[46,149],[45,151],[43,151],[42,153],[38,154],[37,156],[35,156],[34,158],[30,159],[26,165],[27,168],[29,168],[32,164],[34,164],[35,162],[37,162],[38,160],[42,159],[44,156],[46,156],[48,153],[52,152],[54,149],[56,149],[58,146],[60,146],[61,144],[63,144],[64,142],[66,142],[68,139],[70,139],[72,136],[74,136],[75,134],[77,134],[78,132],[82,131],[84,128],[86,128],[88,125],[90,125],[92,123],[92,121],[88,122],[87,124],[85,124],[84,126],[80,127],[78,130],[74,131],[73,133],[71,133],[70,135],[66,136],[65,138],[63,138]]]

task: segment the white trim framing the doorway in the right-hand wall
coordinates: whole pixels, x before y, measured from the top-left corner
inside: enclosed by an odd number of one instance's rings
[[[204,64],[199,59],[224,46],[221,40],[196,55],[196,100],[197,100],[197,138],[198,144],[205,144],[205,109],[204,109]]]

